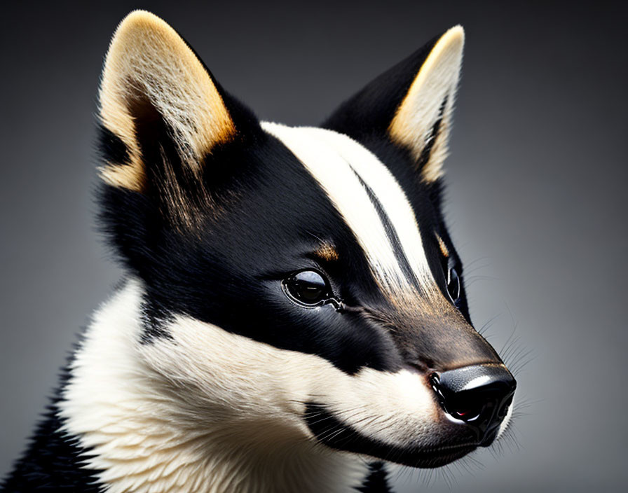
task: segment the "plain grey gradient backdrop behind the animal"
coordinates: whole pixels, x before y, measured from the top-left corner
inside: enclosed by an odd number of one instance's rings
[[[501,349],[514,333],[513,351],[532,351],[517,375],[528,405],[514,423],[517,444],[477,452],[449,473],[402,471],[398,489],[624,490],[628,31],[620,1],[4,5],[1,475],[25,446],[76,333],[120,277],[94,228],[93,114],[111,32],[137,6],[182,32],[261,118],[291,124],[318,123],[463,24],[448,217],[476,325],[497,316],[489,341]]]

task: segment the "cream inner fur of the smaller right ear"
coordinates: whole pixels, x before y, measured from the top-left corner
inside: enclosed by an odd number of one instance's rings
[[[423,160],[423,150],[431,147],[428,160],[421,162],[423,181],[436,181],[442,176],[464,39],[460,26],[440,37],[388,127],[390,139],[409,148],[417,163]]]

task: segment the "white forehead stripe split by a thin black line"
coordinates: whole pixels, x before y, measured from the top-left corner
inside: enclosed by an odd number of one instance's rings
[[[262,127],[280,139],[320,183],[353,230],[384,289],[395,296],[414,291],[412,279],[400,265],[392,239],[360,180],[380,202],[421,289],[436,289],[414,211],[395,177],[373,153],[331,130],[275,123],[262,123]]]

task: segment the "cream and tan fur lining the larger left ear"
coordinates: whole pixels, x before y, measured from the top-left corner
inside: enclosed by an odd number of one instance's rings
[[[130,13],[111,41],[100,86],[100,118],[128,150],[124,164],[107,162],[102,178],[142,191],[146,163],[137,141],[137,95],[160,113],[182,162],[198,172],[203,156],[232,139],[235,125],[212,77],[191,48],[156,15]]]

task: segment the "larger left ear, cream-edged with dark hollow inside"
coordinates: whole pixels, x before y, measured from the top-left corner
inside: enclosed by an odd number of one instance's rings
[[[150,186],[151,174],[164,180],[178,172],[189,181],[207,155],[240,130],[227,103],[172,27],[148,12],[130,13],[114,34],[102,73],[102,178],[137,192]],[[152,169],[159,166],[165,169]]]

